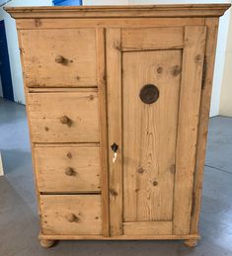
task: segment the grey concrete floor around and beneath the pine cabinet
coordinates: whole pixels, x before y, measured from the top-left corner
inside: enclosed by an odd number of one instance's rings
[[[210,120],[200,218],[202,236],[195,248],[181,241],[61,241],[39,246],[25,107],[0,99],[0,256],[17,255],[232,255],[232,119]]]

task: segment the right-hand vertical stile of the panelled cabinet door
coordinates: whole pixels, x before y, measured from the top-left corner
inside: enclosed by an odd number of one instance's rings
[[[205,26],[185,28],[174,194],[174,234],[188,234],[205,48]]]

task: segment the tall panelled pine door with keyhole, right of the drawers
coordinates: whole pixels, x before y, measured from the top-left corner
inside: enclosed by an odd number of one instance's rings
[[[189,234],[206,28],[106,37],[111,234]]]

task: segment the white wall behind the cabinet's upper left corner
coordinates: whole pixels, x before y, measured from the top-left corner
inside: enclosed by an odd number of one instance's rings
[[[1,1],[1,3],[4,1]],[[5,1],[6,2],[6,1]],[[51,0],[12,0],[5,6],[47,6]],[[16,31],[15,20],[0,8],[0,20],[4,20],[6,26],[6,37],[11,65],[12,84],[16,102],[25,104],[22,66],[20,61],[19,43]]]

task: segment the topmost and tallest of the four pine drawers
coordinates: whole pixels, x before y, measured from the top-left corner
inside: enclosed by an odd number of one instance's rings
[[[94,29],[21,31],[26,85],[97,86]]]

